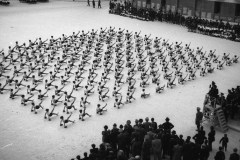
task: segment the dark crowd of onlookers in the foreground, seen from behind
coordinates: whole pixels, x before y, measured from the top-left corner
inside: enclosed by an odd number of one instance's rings
[[[227,134],[218,139],[215,134],[213,126],[208,133],[200,126],[195,135],[184,137],[177,134],[168,117],[164,123],[148,117],[136,119],[134,124],[127,120],[125,125],[114,123],[111,128],[105,125],[99,148],[92,144],[89,153],[84,152],[83,156],[77,155],[71,160],[208,160],[215,149],[213,143],[220,146],[212,157],[225,160],[231,139]],[[237,148],[230,152],[229,160],[239,160]]]

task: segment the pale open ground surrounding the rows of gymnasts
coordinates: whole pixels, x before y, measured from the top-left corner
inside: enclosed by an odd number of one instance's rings
[[[152,34],[152,37],[163,37],[171,42],[191,42],[191,47],[203,46],[204,51],[216,49],[218,55],[224,52],[231,53],[232,56],[240,55],[239,43],[188,33],[186,28],[178,25],[144,22],[110,15],[108,2],[103,2],[102,6],[102,9],[93,9],[83,2],[65,1],[50,1],[34,5],[13,1],[9,7],[0,6],[0,49],[4,48],[7,51],[7,47],[13,46],[15,41],[22,44],[38,37],[47,39],[53,35],[56,38],[62,33],[69,35],[79,30],[87,31],[92,28],[115,26],[129,31],[141,30],[142,35]],[[240,84],[239,69],[240,64],[234,64],[207,77],[198,77],[184,86],[177,86],[172,90],[166,89],[160,95],[154,92],[152,85],[147,89],[151,93],[150,98],[139,98],[138,91],[135,95],[138,98],[134,103],[125,105],[120,110],[108,106],[108,112],[103,116],[95,114],[98,103],[95,93],[88,99],[91,105],[87,108],[93,117],[86,119],[85,122],[78,122],[78,113],[74,112],[73,119],[77,122],[68,129],[59,127],[59,117],[48,122],[43,118],[44,111],[40,111],[37,115],[32,114],[30,106],[20,105],[20,99],[10,100],[9,94],[3,94],[0,96],[0,159],[70,159],[88,151],[92,143],[100,144],[101,131],[105,124],[109,126],[115,122],[125,124],[127,119],[134,122],[137,118],[147,116],[154,117],[159,123],[164,122],[168,116],[178,134],[183,134],[184,137],[193,136],[196,128],[194,124],[196,107],[202,107],[211,81],[216,82],[221,92],[227,93],[227,89]],[[99,70],[99,73],[101,72],[102,70]],[[110,83],[113,84],[113,80]],[[78,99],[82,96],[78,92],[74,95],[78,96]],[[107,102],[113,104],[113,99]],[[48,104],[44,102],[43,105],[48,108]],[[62,107],[56,110],[62,114]],[[206,125],[207,132],[208,128],[209,125]],[[230,130],[228,134],[230,143],[227,155],[232,152],[232,148],[239,147],[239,133]],[[223,133],[218,130],[216,141],[222,135]],[[218,144],[215,142],[213,154],[217,148]]]

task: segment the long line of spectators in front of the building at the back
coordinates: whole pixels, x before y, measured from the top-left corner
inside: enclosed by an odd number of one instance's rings
[[[178,12],[166,11],[165,8],[155,10],[155,8],[139,8],[137,9],[132,3],[124,1],[110,1],[109,13],[126,16],[130,18],[137,18],[147,21],[164,21],[183,25],[188,28],[190,32],[197,32],[209,36],[225,38],[240,42],[240,25],[230,24],[222,20],[207,20],[198,17],[187,17]]]

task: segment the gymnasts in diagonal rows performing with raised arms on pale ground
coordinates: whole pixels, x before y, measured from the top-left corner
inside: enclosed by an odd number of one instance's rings
[[[34,113],[45,109],[48,120],[58,116],[55,108],[62,106],[66,114],[79,110],[84,121],[93,115],[87,113],[94,103],[88,97],[93,94],[98,95],[96,114],[102,115],[107,107],[120,109],[134,102],[135,91],[148,98],[238,62],[236,55],[218,55],[216,50],[191,48],[191,43],[140,34],[110,26],[49,40],[37,38],[28,45],[16,41],[7,53],[0,53],[0,93],[10,93],[10,99],[20,97],[21,104],[31,105]],[[148,92],[150,85],[155,93]],[[109,105],[111,97],[114,104]],[[61,116],[60,125],[74,123],[72,114]]]

